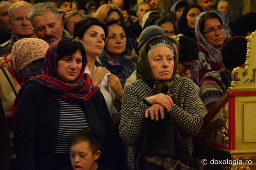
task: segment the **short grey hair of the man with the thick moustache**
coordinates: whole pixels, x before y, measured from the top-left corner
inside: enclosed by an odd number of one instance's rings
[[[60,13],[58,12],[58,9],[51,4],[51,2],[42,2],[36,4],[32,11],[28,14],[28,20],[30,20],[31,24],[33,25],[33,20],[36,16],[45,14],[48,11],[52,11],[60,20]]]

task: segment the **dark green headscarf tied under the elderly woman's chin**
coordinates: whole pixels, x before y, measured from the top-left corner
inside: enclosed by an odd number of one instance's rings
[[[178,70],[178,59],[177,56],[175,55],[175,49],[174,49],[174,68],[172,72],[172,77],[168,81],[158,81],[155,79],[154,74],[151,70],[149,61],[148,61],[148,45],[152,41],[156,41],[156,39],[164,39],[170,43],[172,46],[172,43],[163,36],[156,36],[150,38],[140,49],[139,52],[139,58],[138,58],[138,64],[137,64],[137,78],[144,80],[149,86],[153,88],[153,94],[158,94],[158,93],[164,93],[168,94],[169,96],[172,97],[172,100],[175,104],[178,105],[178,98],[176,94],[174,94],[171,86],[173,83],[173,80],[176,76],[177,70]]]

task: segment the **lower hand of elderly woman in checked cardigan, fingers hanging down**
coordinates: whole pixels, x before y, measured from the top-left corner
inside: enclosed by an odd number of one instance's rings
[[[150,115],[151,120],[158,121],[159,119],[159,111],[161,119],[164,119],[164,107],[160,104],[153,104],[152,106],[148,107],[145,111],[145,117],[147,118]]]

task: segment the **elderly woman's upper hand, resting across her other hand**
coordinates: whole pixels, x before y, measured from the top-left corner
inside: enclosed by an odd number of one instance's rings
[[[150,96],[146,98],[146,100],[152,105],[153,104],[161,105],[162,107],[164,107],[164,109],[166,109],[166,111],[172,110],[172,105],[173,105],[172,98],[166,94],[159,93],[154,96]]]

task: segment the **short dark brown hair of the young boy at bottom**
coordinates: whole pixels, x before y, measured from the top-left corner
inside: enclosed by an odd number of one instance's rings
[[[92,154],[95,154],[97,150],[101,149],[100,138],[90,129],[83,129],[75,133],[70,139],[69,147],[79,142],[88,142],[92,149]]]

